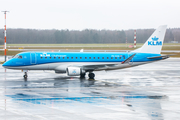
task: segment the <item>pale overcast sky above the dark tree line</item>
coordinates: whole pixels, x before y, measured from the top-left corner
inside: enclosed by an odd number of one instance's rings
[[[180,0],[0,0],[7,28],[143,29],[180,27]],[[4,14],[0,13],[0,29]]]

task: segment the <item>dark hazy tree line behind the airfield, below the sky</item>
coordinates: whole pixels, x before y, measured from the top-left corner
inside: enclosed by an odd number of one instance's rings
[[[144,43],[155,29],[136,30],[137,43]],[[4,44],[4,30],[0,29],[0,44]],[[71,44],[71,43],[133,43],[134,30],[37,30],[7,29],[7,44]],[[180,43],[180,28],[166,30],[165,42]]]

